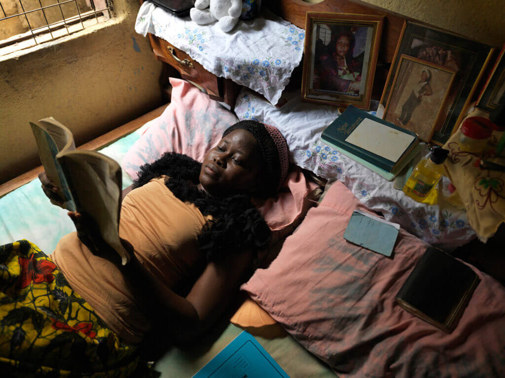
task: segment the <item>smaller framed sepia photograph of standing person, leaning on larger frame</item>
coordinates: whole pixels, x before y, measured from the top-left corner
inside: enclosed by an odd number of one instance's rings
[[[401,55],[383,119],[429,142],[456,72],[455,68]]]

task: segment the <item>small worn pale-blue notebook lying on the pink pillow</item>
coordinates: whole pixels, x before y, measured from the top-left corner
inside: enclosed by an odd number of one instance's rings
[[[352,212],[344,239],[366,249],[391,256],[400,225],[361,210]]]

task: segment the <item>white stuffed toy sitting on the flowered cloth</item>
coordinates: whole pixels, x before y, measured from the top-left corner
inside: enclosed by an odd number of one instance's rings
[[[207,9],[209,8],[209,9]],[[198,25],[219,20],[219,27],[229,32],[235,27],[242,13],[242,0],[196,0],[189,15]]]

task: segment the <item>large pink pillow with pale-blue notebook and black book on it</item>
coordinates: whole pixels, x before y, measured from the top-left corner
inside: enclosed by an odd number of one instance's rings
[[[391,258],[349,243],[355,209],[368,211],[333,184],[242,289],[342,376],[505,376],[505,288],[473,268],[481,282],[458,326],[438,330],[394,301],[427,245],[404,230]]]

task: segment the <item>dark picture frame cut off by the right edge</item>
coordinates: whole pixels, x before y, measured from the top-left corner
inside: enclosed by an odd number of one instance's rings
[[[505,45],[501,49],[475,104],[475,106],[489,113],[498,107],[500,98],[505,94],[505,59],[503,59],[503,52],[505,52]]]

